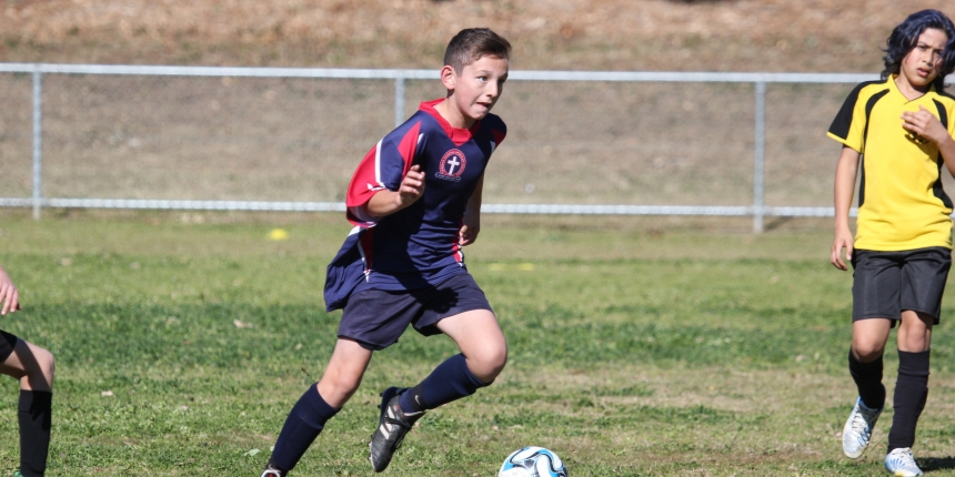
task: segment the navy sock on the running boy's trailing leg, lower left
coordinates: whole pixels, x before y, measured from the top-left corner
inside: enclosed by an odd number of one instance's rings
[[[338,412],[339,409],[325,403],[315,384],[309,386],[285,418],[269,461],[283,471],[292,470],[305,450],[309,450],[309,446],[322,433],[325,423]]]

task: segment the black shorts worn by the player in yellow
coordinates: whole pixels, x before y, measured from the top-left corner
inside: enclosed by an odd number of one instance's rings
[[[952,266],[952,251],[945,247],[852,254],[852,321],[902,319],[902,312],[926,313],[938,324],[942,293]]]

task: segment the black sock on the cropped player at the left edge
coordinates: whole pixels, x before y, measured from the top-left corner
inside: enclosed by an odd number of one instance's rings
[[[50,423],[53,393],[20,389],[17,417],[20,422],[20,473],[23,477],[42,476],[47,471],[50,450]]]

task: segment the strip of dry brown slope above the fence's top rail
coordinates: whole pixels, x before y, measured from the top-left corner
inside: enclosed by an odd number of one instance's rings
[[[892,27],[942,0],[2,0],[0,61],[434,68],[460,29],[515,69],[882,68]]]

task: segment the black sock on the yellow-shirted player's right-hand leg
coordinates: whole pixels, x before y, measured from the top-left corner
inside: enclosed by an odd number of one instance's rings
[[[915,444],[915,426],[928,397],[928,354],[898,352],[898,380],[892,407],[892,429],[888,432],[888,451]]]

